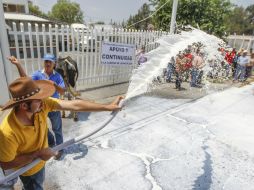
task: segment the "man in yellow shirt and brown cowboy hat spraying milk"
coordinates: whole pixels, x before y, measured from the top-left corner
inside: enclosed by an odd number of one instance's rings
[[[2,110],[12,108],[0,125],[0,165],[4,170],[18,169],[36,158],[40,161],[20,176],[24,189],[43,189],[45,161],[56,153],[48,147],[47,115],[54,110],[114,111],[120,109],[117,97],[110,104],[85,100],[60,100],[50,97],[55,85],[49,80],[16,79],[9,85],[12,99]]]

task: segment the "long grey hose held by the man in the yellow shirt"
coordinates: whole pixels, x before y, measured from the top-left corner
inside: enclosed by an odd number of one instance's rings
[[[124,101],[121,100],[120,103],[119,103],[119,106],[122,107],[122,106],[123,106],[123,103],[124,103]],[[66,142],[63,142],[63,143],[60,144],[60,145],[55,146],[54,148],[52,148],[53,151],[56,152],[56,151],[62,150],[62,149],[66,148],[66,147],[68,147],[68,146],[70,146],[70,145],[72,145],[72,144],[75,144],[75,143],[77,143],[77,142],[80,142],[80,141],[82,141],[82,140],[84,140],[84,139],[86,139],[86,138],[92,136],[93,134],[97,133],[98,131],[100,131],[100,130],[102,130],[104,127],[106,127],[106,126],[115,118],[115,116],[117,115],[117,113],[118,113],[118,111],[113,111],[113,112],[111,113],[111,117],[110,117],[107,121],[105,121],[100,127],[98,127],[97,129],[95,129],[94,131],[90,132],[90,133],[87,134],[87,135],[80,135],[80,136],[78,136],[78,137],[76,137],[76,138],[70,139],[70,140],[68,140],[68,141],[66,141]],[[34,167],[34,166],[35,166],[36,164],[38,164],[40,161],[41,161],[41,159],[40,159],[40,158],[37,158],[37,159],[35,159],[33,162],[31,162],[30,164],[27,164],[27,165],[23,166],[22,168],[16,170],[15,172],[13,172],[13,173],[11,173],[11,174],[9,174],[9,175],[7,175],[7,176],[1,178],[1,179],[0,179],[0,184],[5,184],[5,183],[7,183],[8,181],[11,181],[11,180],[17,178],[18,176],[22,175],[23,173],[25,173],[26,171],[28,171],[29,169],[31,169],[32,167]]]

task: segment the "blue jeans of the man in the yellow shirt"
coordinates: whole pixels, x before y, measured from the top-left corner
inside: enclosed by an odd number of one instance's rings
[[[19,176],[23,183],[22,190],[43,190],[45,180],[45,167],[31,176]]]

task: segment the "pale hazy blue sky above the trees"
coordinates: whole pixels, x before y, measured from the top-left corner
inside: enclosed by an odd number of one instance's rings
[[[244,7],[254,4],[254,0],[231,1]],[[48,12],[57,0],[33,0],[33,2],[41,10]],[[75,0],[75,2],[80,4],[86,22],[104,21],[109,23],[111,19],[117,22],[121,22],[123,19],[127,20],[131,14],[136,14],[148,0]]]

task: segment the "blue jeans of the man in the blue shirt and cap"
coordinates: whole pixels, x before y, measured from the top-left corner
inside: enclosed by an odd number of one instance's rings
[[[60,111],[49,112],[48,117],[51,121],[54,135],[48,131],[48,143],[50,147],[63,143],[62,118]],[[55,140],[56,139],[56,140]]]

